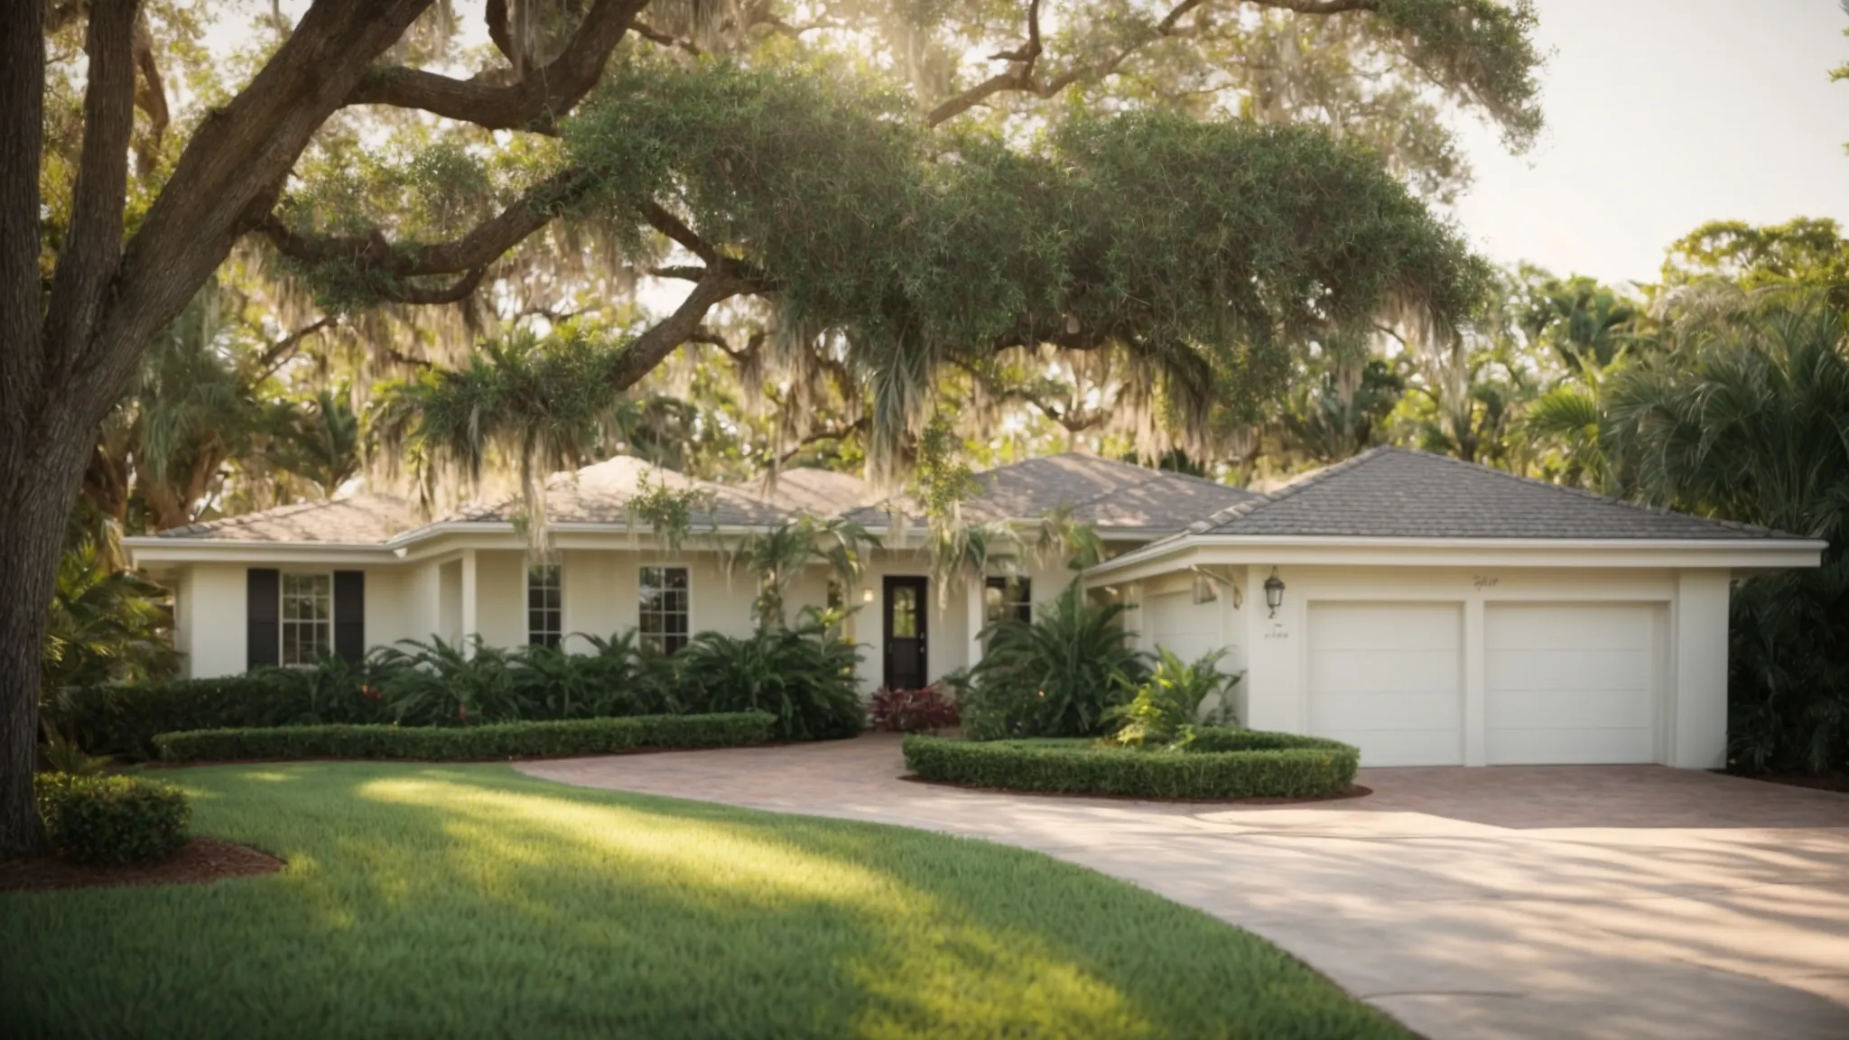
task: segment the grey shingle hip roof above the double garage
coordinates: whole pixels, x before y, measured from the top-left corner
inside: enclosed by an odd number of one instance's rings
[[[1374,448],[1189,533],[1361,539],[1784,539],[1766,527],[1647,509],[1476,463]]]

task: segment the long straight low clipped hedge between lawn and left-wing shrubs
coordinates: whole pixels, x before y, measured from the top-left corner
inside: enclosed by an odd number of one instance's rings
[[[777,716],[640,714],[494,725],[276,725],[264,729],[196,729],[153,738],[168,762],[235,762],[253,759],[418,759],[453,762],[545,755],[608,755],[636,748],[736,748],[764,744]]]

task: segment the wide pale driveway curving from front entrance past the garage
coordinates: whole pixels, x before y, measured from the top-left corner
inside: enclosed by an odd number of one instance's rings
[[[1363,770],[1289,807],[899,779],[891,737],[527,762],[1039,849],[1270,938],[1433,1040],[1849,1036],[1849,796],[1660,766]]]

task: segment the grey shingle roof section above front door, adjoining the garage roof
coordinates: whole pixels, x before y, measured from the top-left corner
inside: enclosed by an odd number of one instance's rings
[[[978,492],[963,501],[974,522],[1037,520],[1059,507],[1095,527],[1182,531],[1215,511],[1255,500],[1250,490],[1169,470],[1150,470],[1098,455],[1043,455],[976,474]],[[867,526],[886,524],[888,507],[849,513]]]

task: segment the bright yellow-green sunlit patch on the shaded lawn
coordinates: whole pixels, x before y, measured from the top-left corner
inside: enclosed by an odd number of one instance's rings
[[[453,840],[442,853],[449,879],[521,912],[560,918],[555,927],[582,922],[540,898],[538,877],[553,872],[603,879],[614,914],[618,894],[636,888],[730,912],[851,912],[867,949],[838,968],[869,997],[856,1018],[867,1036],[912,1036],[921,1020],[980,1023],[995,1034],[1067,1034],[1100,1023],[1113,1036],[1154,1029],[1117,986],[1034,935],[984,927],[926,890],[765,827],[429,775],[373,779],[357,794],[442,812]],[[390,883],[398,872],[381,875]]]

